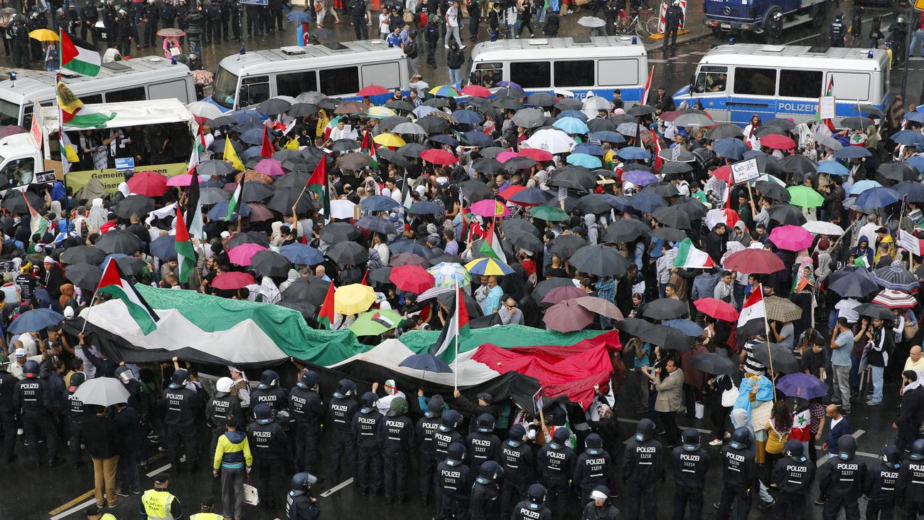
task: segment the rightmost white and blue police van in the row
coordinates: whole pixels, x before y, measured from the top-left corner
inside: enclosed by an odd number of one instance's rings
[[[715,121],[747,125],[751,117],[815,117],[829,87],[835,116],[857,116],[857,105],[885,110],[891,105],[889,56],[881,49],[763,45],[721,45],[699,61],[690,84],[674,94],[680,105],[699,102]]]

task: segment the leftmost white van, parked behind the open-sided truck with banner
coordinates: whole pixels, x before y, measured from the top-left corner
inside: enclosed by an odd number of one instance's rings
[[[13,72],[10,76],[0,81],[0,126],[28,129],[36,102],[55,105],[56,73]],[[158,56],[103,63],[94,77],[67,69],[61,69],[61,76],[67,88],[87,104],[151,99],[178,99],[183,104],[196,101],[196,84],[189,68]]]

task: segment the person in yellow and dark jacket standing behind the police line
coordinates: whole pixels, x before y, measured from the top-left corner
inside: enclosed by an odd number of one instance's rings
[[[247,434],[237,431],[237,417],[229,415],[225,422],[227,431],[218,438],[213,460],[214,477],[222,472],[222,507],[225,518],[239,520],[244,508],[244,475],[250,473],[253,456]]]

